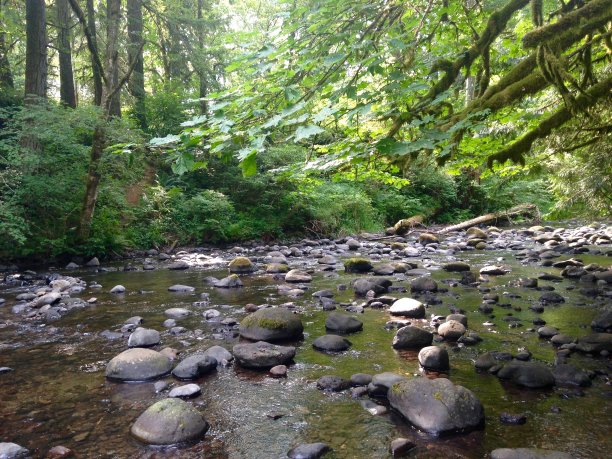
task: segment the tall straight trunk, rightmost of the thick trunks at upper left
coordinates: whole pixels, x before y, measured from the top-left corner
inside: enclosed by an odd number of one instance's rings
[[[142,0],[128,0],[128,57],[134,63],[134,71],[128,82],[128,89],[136,99],[134,113],[141,129],[147,128],[145,111],[144,61],[142,58]]]

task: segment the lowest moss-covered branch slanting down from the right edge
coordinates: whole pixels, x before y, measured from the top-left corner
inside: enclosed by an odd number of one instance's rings
[[[585,94],[581,94],[580,96],[578,96],[576,98],[575,104],[581,110],[586,110],[589,107],[595,105],[601,99],[610,98],[611,91],[612,77],[609,77],[601,81],[600,83],[591,86],[591,88],[586,91]],[[529,152],[531,146],[536,140],[548,136],[554,129],[563,126],[572,118],[572,112],[564,106],[563,108],[559,109],[551,116],[543,120],[538,126],[527,132],[527,134],[525,134],[513,144],[495,153],[494,155],[489,156],[487,160],[487,166],[492,167],[495,161],[503,163],[508,160],[524,164],[524,155],[525,153]]]

